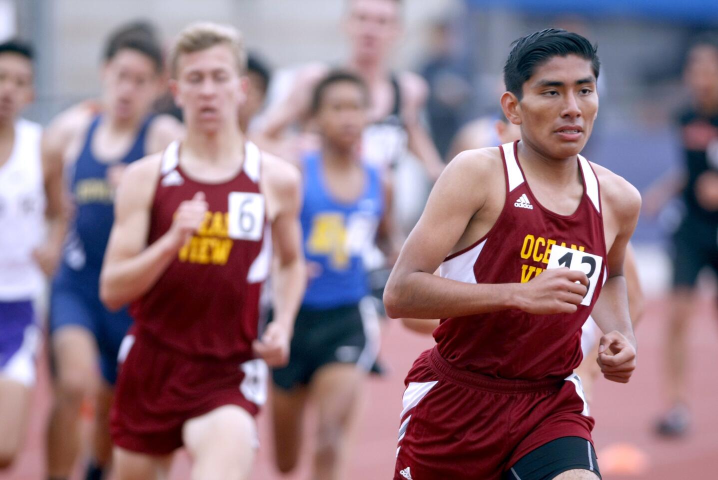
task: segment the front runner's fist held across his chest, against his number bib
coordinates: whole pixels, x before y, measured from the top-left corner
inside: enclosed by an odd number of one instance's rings
[[[521,284],[518,305],[524,312],[536,315],[574,313],[587,291],[588,277],[584,272],[566,267],[544,270]]]

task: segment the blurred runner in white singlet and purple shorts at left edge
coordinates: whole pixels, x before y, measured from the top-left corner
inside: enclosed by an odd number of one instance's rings
[[[57,267],[66,223],[62,168],[42,165],[42,128],[19,116],[32,101],[32,81],[29,45],[1,43],[0,469],[22,445],[40,341],[33,300]]]

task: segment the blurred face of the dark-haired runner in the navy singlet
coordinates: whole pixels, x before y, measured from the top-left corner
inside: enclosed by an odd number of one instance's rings
[[[149,113],[159,94],[161,78],[150,57],[137,50],[118,51],[103,68],[108,113],[121,121]]]

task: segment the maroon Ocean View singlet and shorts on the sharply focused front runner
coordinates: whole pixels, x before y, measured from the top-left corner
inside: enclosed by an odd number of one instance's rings
[[[517,145],[500,147],[503,211],[492,229],[444,260],[442,277],[528,282],[547,268],[582,269],[589,288],[577,312],[502,310],[445,318],[406,377],[394,478],[498,480],[519,458],[565,436],[591,440],[579,377],[581,327],[607,276],[597,176],[579,155],[584,194],[569,216],[531,193]]]

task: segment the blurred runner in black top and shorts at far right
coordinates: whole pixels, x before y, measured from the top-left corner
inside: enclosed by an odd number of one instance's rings
[[[674,195],[681,194],[684,206],[673,233],[673,292],[664,346],[668,410],[656,425],[658,433],[668,436],[686,433],[690,423],[686,356],[696,280],[704,267],[718,274],[718,40],[704,37],[695,42],[686,58],[684,80],[692,98],[678,119],[684,172],[664,177],[646,194],[649,213],[656,213]]]

